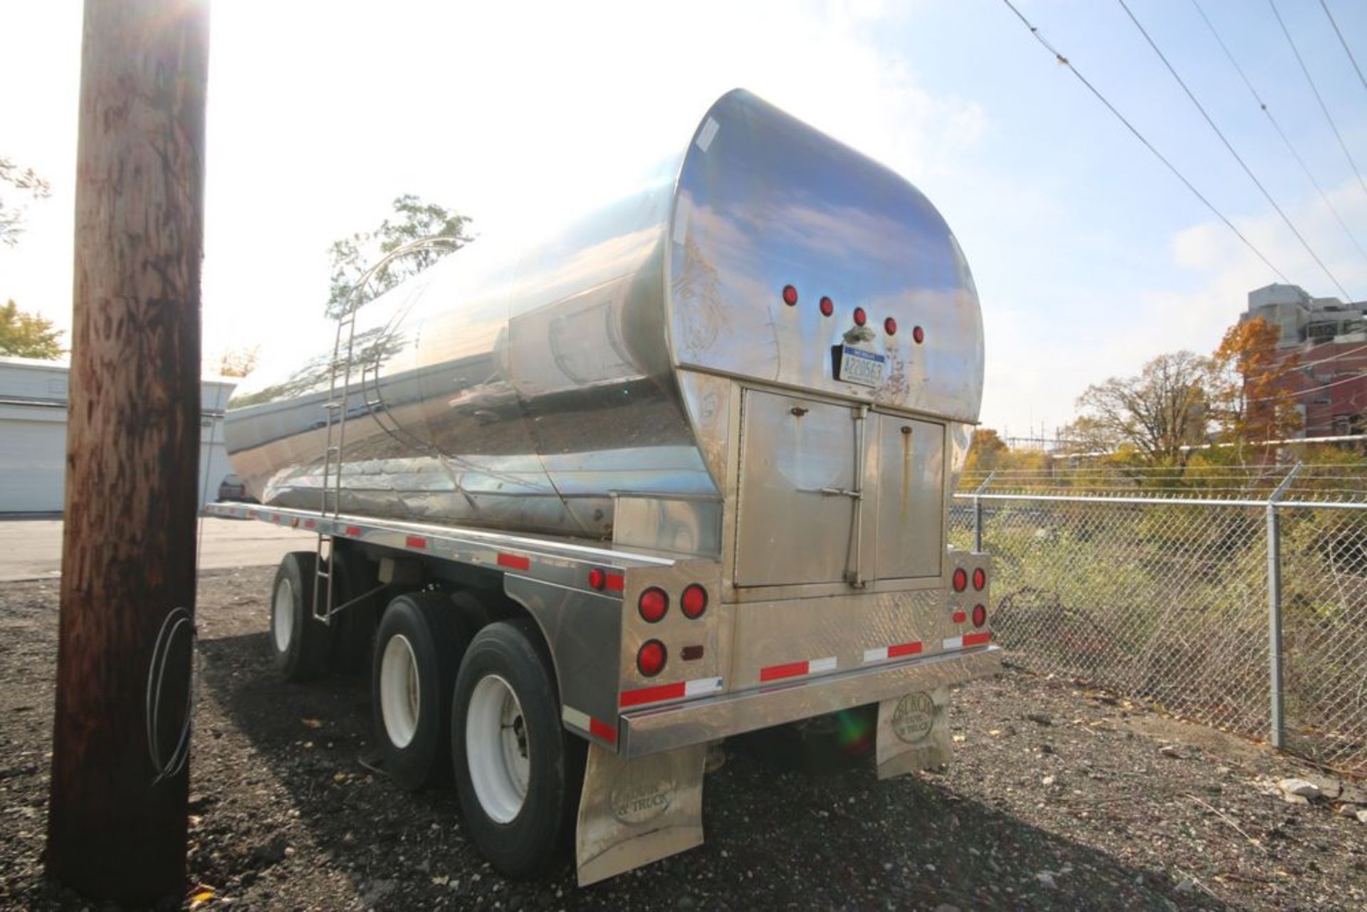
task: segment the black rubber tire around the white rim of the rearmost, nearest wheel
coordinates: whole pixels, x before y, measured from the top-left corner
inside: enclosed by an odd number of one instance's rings
[[[472,696],[481,681],[493,675],[507,684],[521,706],[525,741],[519,741],[529,760],[525,797],[515,815],[506,820],[485,809],[472,777],[472,745],[466,744]],[[569,846],[573,833],[586,745],[560,725],[559,707],[551,660],[541,648],[534,623],[517,618],[480,630],[465,652],[455,684],[451,757],[461,808],[474,845],[495,868],[511,878],[544,874]],[[478,729],[478,712],[476,719]],[[480,745],[473,748],[476,756],[481,756]]]

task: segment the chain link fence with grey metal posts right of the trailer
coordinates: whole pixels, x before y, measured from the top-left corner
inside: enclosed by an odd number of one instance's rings
[[[1021,665],[1367,774],[1367,474],[1221,472],[969,476],[950,541]]]

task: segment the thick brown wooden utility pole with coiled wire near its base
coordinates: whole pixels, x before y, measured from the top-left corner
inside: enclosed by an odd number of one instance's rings
[[[124,904],[185,891],[208,7],[85,4],[46,863]]]

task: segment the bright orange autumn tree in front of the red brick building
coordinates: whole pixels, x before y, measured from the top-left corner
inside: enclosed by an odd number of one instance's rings
[[[1300,431],[1292,375],[1295,351],[1280,351],[1281,332],[1262,317],[1225,332],[1211,357],[1211,418],[1225,443],[1285,440]]]

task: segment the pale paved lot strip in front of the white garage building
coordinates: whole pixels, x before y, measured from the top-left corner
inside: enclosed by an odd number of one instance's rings
[[[0,518],[0,582],[62,576],[62,520]],[[309,550],[314,536],[265,522],[200,520],[200,569],[273,566],[287,551]]]

